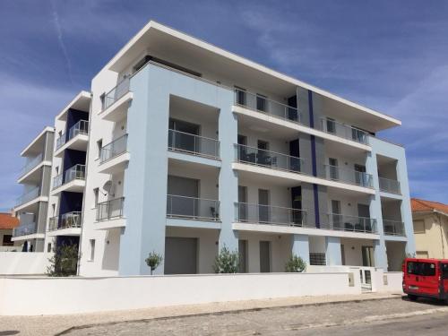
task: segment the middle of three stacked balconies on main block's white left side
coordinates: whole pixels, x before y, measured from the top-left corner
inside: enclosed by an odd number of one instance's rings
[[[125,170],[130,156],[127,151],[127,134],[101,148],[99,173],[114,174]]]

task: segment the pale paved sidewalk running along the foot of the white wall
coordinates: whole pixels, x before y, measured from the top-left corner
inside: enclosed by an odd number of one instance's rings
[[[211,303],[192,306],[167,306],[159,308],[116,311],[94,314],[0,316],[0,334],[18,331],[17,335],[55,335],[76,326],[123,321],[149,320],[194,314],[217,314],[241,310],[258,310],[280,306],[328,305],[351,301],[400,298],[401,293],[368,293],[356,296],[286,297],[266,300]],[[12,333],[11,333],[12,334]]]

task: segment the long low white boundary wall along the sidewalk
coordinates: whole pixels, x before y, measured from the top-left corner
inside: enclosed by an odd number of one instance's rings
[[[349,287],[349,274],[343,272],[2,278],[0,315],[76,314],[271,297],[360,293],[360,287]],[[61,297],[64,297],[63,301]],[[23,305],[23,302],[27,304]]]

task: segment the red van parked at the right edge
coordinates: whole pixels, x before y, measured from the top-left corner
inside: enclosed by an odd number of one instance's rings
[[[448,302],[448,260],[407,258],[403,264],[403,292],[411,300],[434,297]]]

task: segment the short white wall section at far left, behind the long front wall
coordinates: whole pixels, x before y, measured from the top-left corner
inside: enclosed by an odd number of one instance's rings
[[[2,252],[0,275],[44,274],[49,265],[48,256],[43,252]]]

